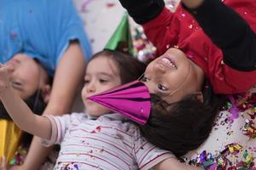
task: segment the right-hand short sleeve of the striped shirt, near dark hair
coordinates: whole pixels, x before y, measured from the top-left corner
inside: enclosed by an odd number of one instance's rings
[[[139,133],[134,140],[134,144],[134,154],[141,170],[150,169],[167,158],[175,157],[170,151],[161,150],[148,143]]]

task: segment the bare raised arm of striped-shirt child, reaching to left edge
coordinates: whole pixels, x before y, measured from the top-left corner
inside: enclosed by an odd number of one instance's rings
[[[0,99],[9,116],[22,130],[49,139],[51,135],[50,122],[46,117],[33,114],[26,103],[20,99],[12,88],[7,68],[0,66]]]

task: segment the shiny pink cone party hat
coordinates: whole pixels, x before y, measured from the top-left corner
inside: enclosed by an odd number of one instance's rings
[[[143,82],[130,82],[88,99],[140,124],[145,124],[150,115],[150,94]]]

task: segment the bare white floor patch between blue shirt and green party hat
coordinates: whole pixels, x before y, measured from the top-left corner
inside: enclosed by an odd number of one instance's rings
[[[108,42],[119,25],[124,8],[117,0],[74,0],[84,20],[84,28],[96,53]]]

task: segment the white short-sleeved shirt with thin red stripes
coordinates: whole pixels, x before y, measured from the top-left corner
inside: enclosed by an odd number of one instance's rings
[[[61,144],[55,169],[149,169],[166,158],[170,151],[149,144],[136,125],[119,114],[96,120],[84,113],[47,116],[52,135],[44,145]]]

